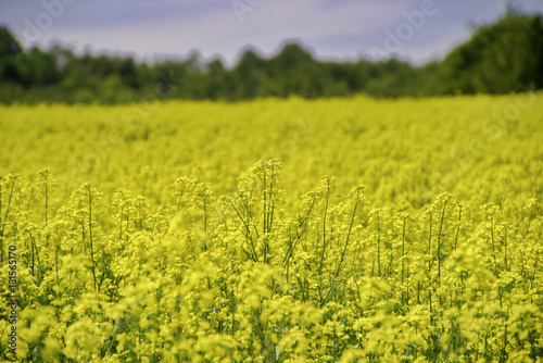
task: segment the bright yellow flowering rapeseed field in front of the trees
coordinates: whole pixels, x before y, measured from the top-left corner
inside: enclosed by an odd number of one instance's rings
[[[0,355],[533,362],[542,99],[0,107]]]

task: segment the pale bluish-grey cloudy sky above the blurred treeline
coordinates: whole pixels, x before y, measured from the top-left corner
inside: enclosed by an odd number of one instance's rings
[[[495,21],[508,0],[0,0],[0,25],[25,48],[53,41],[81,52],[152,61],[198,50],[227,65],[248,47],[269,57],[299,41],[318,59],[395,55],[420,64]],[[543,13],[543,0],[515,0]],[[469,26],[468,24],[471,24]]]

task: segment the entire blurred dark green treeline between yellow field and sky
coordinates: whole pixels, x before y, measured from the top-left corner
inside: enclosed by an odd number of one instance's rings
[[[128,102],[151,98],[244,100],[367,93],[378,97],[506,93],[543,87],[543,17],[508,11],[481,25],[442,61],[422,66],[394,58],[326,62],[298,43],[268,59],[247,49],[232,68],[198,53],[155,65],[108,54],[76,55],[59,45],[22,50],[0,28],[0,101]]]

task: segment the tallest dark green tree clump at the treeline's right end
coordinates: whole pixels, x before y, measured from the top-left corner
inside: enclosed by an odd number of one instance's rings
[[[543,18],[509,10],[482,25],[443,61],[449,92],[504,93],[543,86]]]

